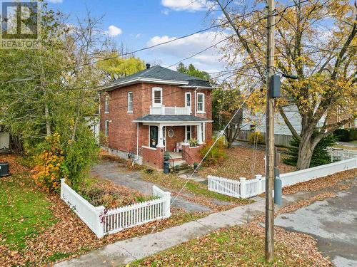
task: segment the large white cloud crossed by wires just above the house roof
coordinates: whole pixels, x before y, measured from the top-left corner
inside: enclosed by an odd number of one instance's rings
[[[176,37],[169,36],[154,36],[146,44],[147,46],[154,46],[159,43],[174,40]],[[216,33],[214,31],[207,31],[205,33],[196,33],[187,38],[182,38],[171,43],[166,43],[162,46],[157,46],[150,50],[151,56],[156,58],[165,58],[164,64],[171,65],[183,58],[188,58],[195,53],[203,51],[215,43],[226,38],[224,33]],[[192,58],[183,61],[183,63],[193,63],[193,65],[200,67],[201,70],[212,70],[223,68],[221,48],[224,41],[219,43],[216,47],[210,48],[207,51],[199,53]]]

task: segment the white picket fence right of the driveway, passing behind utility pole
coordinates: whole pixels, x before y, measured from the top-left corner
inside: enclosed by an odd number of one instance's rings
[[[283,187],[288,187],[293,184],[310,181],[320,177],[325,177],[336,172],[342,172],[347,169],[357,168],[357,158],[346,159],[339,162],[333,162],[317,167],[303,169],[296,172],[288,172],[280,175]],[[220,194],[226,194],[230,197],[241,197],[246,199],[255,197],[258,194],[265,192],[265,177],[256,175],[255,179],[247,180],[241,177],[238,180],[227,179],[208,175],[208,190]]]

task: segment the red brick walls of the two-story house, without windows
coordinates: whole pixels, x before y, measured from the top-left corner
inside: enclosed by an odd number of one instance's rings
[[[183,107],[185,105],[185,93],[191,92],[192,98],[192,115],[194,115],[194,107],[196,106],[196,99],[194,89],[183,89],[176,85],[158,85],[150,83],[140,83],[135,85],[128,85],[124,88],[101,94],[101,132],[104,133],[105,120],[111,120],[109,123],[109,137],[108,147],[114,150],[121,150],[124,152],[132,152],[136,154],[136,123],[132,122],[138,117],[147,115],[150,112],[151,105],[151,90],[153,87],[160,87],[163,89],[163,105]],[[128,110],[128,93],[133,92],[133,112]],[[206,117],[211,120],[211,90],[197,90],[197,92],[205,93],[205,111],[203,114],[196,114],[198,117]],[[105,96],[109,95],[109,114],[104,112]],[[168,127],[169,129],[169,127]],[[176,142],[182,142],[185,138],[184,128],[174,130],[174,137],[169,138],[166,130],[166,144],[168,151],[173,151],[176,147]],[[193,137],[196,138],[196,126],[192,127]],[[206,123],[206,140],[211,138],[211,122]],[[148,126],[140,125],[139,128],[139,150],[142,145],[148,145]],[[139,153],[141,155],[141,153]],[[144,153],[143,153],[144,155]],[[144,159],[145,162],[145,159]]]

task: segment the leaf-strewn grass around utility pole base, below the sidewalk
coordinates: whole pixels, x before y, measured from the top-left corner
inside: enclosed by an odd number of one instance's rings
[[[275,258],[264,261],[264,229],[233,226],[193,239],[131,266],[331,266],[306,234],[275,229]]]

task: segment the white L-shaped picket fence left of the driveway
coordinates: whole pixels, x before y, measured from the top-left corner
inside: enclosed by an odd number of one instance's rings
[[[90,204],[61,179],[61,199],[98,238],[150,221],[169,218],[171,193],[153,186],[153,195],[159,198],[117,209],[105,209],[104,206]]]

